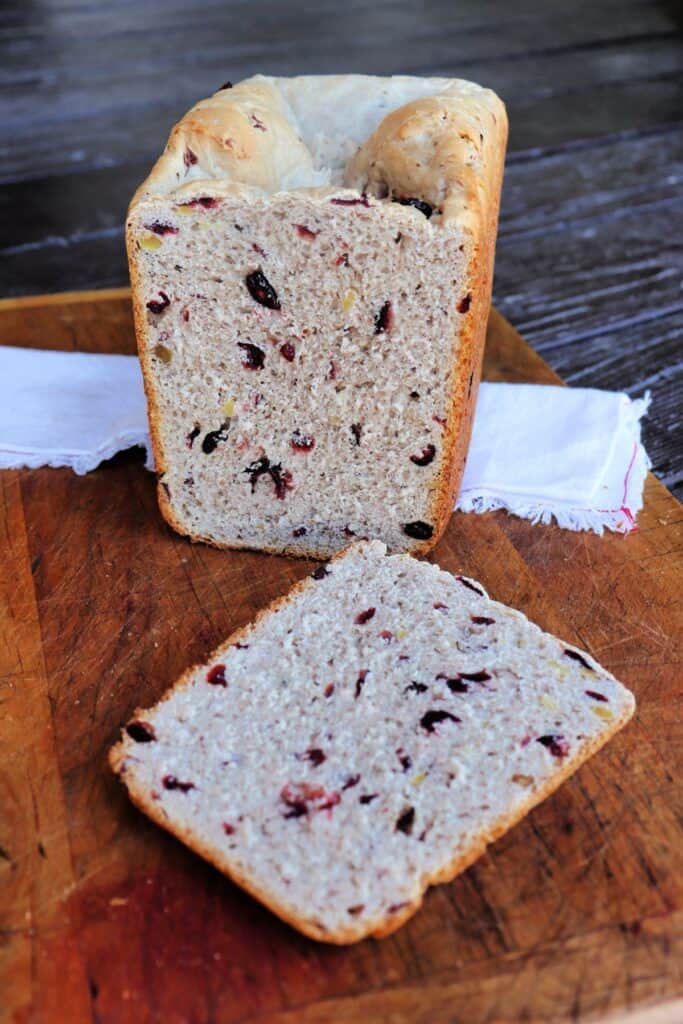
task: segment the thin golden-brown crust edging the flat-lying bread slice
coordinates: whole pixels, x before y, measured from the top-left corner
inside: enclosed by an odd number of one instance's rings
[[[333,563],[338,559],[345,557],[351,549],[362,548],[369,543],[371,542],[355,542],[335,554],[333,558],[330,559],[330,562]],[[485,591],[483,591],[480,584],[476,581],[472,581],[472,583],[475,583],[476,586],[485,594]],[[161,703],[170,699],[170,697],[173,696],[178,690],[186,686],[190,678],[198,670],[213,662],[218,662],[221,654],[225,650],[233,646],[236,643],[244,640],[264,618],[269,617],[272,612],[278,611],[280,608],[291,603],[291,601],[298,594],[313,586],[315,586],[315,581],[311,577],[307,577],[295,584],[287,594],[271,601],[258,612],[252,623],[241,627],[230,634],[227,640],[216,647],[205,662],[199,663],[183,672],[179,679],[173,684],[173,686],[170,687],[169,690],[167,690],[161,699],[157,701],[152,710],[155,710]],[[563,641],[561,642],[564,644]],[[564,644],[564,646],[569,649],[577,650],[582,653],[582,655],[590,658],[590,654],[587,654],[585,651],[580,651],[580,649],[573,647],[572,644]],[[147,713],[151,709],[136,708],[132,717],[135,718],[138,715]],[[517,806],[510,813],[501,815],[489,828],[481,831],[479,836],[470,842],[465,850],[459,852],[452,860],[445,861],[437,869],[420,879],[416,887],[415,898],[412,899],[409,902],[409,905],[402,908],[399,912],[378,915],[376,919],[367,922],[364,925],[358,925],[356,927],[349,925],[348,927],[341,928],[335,932],[318,927],[314,922],[310,922],[302,918],[292,908],[283,904],[273,892],[255,885],[253,880],[250,879],[244,871],[240,870],[240,868],[230,861],[228,856],[224,855],[222,851],[212,848],[211,845],[194,829],[186,828],[182,825],[169,821],[163,809],[151,798],[144,787],[138,784],[135,779],[127,776],[125,764],[126,758],[133,752],[135,744],[123,730],[122,738],[110,750],[108,760],[112,770],[119,776],[121,781],[126,786],[132,802],[139,810],[143,811],[150,818],[152,818],[153,821],[166,828],[187,847],[200,854],[200,856],[206,861],[249,893],[250,896],[253,896],[264,906],[268,907],[268,909],[276,914],[276,916],[279,916],[282,921],[285,921],[287,924],[296,928],[304,935],[321,942],[329,942],[334,945],[348,945],[365,938],[382,939],[391,935],[398,928],[400,928],[401,925],[403,925],[420,909],[424,901],[425,894],[431,886],[444,885],[452,882],[458,874],[462,873],[466,870],[466,868],[473,864],[474,861],[484,853],[486,847],[490,843],[495,842],[502,835],[517,824],[517,822],[524,818],[529,811],[537,806],[537,804],[542,803],[547,797],[553,794],[555,790],[557,790],[562,782],[565,781],[565,779],[581,768],[585,761],[597,753],[597,751],[599,751],[614,735],[614,733],[618,732],[618,730],[627,724],[634,712],[635,701],[626,707],[623,714],[616,716],[609,723],[608,727],[605,728],[604,732],[595,736],[592,740],[585,741],[584,744],[575,751],[575,753],[571,756],[567,756],[562,761],[561,767],[558,768],[556,773],[548,779],[543,786],[529,794],[528,798],[522,804]]]

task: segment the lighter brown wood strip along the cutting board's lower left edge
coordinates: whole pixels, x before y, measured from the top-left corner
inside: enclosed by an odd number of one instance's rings
[[[74,884],[61,766],[54,741],[19,474],[0,474],[0,1015],[54,991],[65,1019],[88,1020],[90,994],[74,938],[69,971],[36,955],[59,892]]]

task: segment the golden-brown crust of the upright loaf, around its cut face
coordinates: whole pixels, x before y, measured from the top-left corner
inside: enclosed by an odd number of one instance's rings
[[[335,82],[344,78],[346,77],[329,76],[325,78],[325,83],[332,87]],[[272,186],[279,173],[278,155],[283,148],[292,150],[294,156],[290,153],[290,162],[293,161],[296,166],[301,167],[307,161],[310,163],[310,154],[288,121],[288,118],[293,118],[293,114],[273,84],[278,81],[261,77],[249,79],[233,89],[221,90],[193,108],[174,127],[166,151],[137,189],[129,208],[126,244],[132,282],[133,314],[147,397],[152,446],[160,478],[167,471],[167,465],[147,344],[150,325],[143,304],[130,214],[151,195],[177,193],[182,188],[183,199],[186,201],[194,195],[193,184],[196,185],[198,196],[212,195],[212,187],[220,189],[221,186],[224,188],[226,184],[237,185],[238,182]],[[299,81],[306,83],[302,88],[310,88],[314,80]],[[403,165],[408,163],[400,147],[400,139],[408,126],[411,132],[421,136],[435,130],[434,125],[441,124],[442,116],[447,115],[452,119],[447,131],[439,129],[441,142],[436,151],[438,159],[434,158],[427,165],[422,186],[425,195],[431,196],[435,203],[440,203],[444,225],[450,221],[462,221],[471,232],[473,241],[469,275],[464,284],[465,294],[471,299],[469,308],[458,318],[459,344],[455,344],[454,339],[451,411],[442,434],[440,468],[428,504],[427,521],[433,527],[432,535],[424,540],[410,539],[405,550],[414,555],[430,551],[443,535],[465,469],[490,307],[499,201],[507,144],[507,115],[498,96],[471,83],[458,80],[434,81],[439,82],[438,93],[409,102],[389,114],[360,147],[349,164],[346,175],[350,183],[354,183],[355,179],[355,184],[360,184],[364,188],[364,175],[366,180],[370,180],[366,174],[368,168],[372,173],[379,173],[379,168],[381,174],[389,180],[400,178],[405,173]],[[255,131],[245,114],[251,106],[258,109],[259,114],[267,119],[269,129],[274,129],[267,133],[267,145],[264,133]],[[488,130],[480,133],[481,142],[477,151],[479,161],[475,170],[470,166],[475,142],[472,137],[473,125],[479,124],[482,119]],[[224,135],[228,129],[231,146],[226,153]],[[399,139],[398,144],[396,139]],[[205,154],[213,179],[204,177],[190,184],[180,179],[178,168],[182,167],[187,146],[194,147],[193,153],[201,151]],[[372,171],[373,168],[375,171]],[[335,191],[337,189],[333,194]],[[359,195],[359,190],[356,189],[355,195]],[[388,204],[383,207],[382,214],[392,217],[396,216],[397,211]],[[457,298],[454,297],[454,305],[456,301]],[[243,543],[237,540],[226,543],[193,532],[179,520],[161,479],[157,490],[160,510],[166,522],[194,542],[207,543],[220,549],[258,550],[303,558],[325,559],[330,556],[330,549],[307,546],[305,543],[299,543],[296,547],[261,543],[255,545],[249,541]]]

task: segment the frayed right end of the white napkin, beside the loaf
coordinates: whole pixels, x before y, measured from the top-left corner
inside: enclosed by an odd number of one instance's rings
[[[456,508],[507,509],[566,529],[629,534],[650,462],[640,442],[649,392],[481,384]]]

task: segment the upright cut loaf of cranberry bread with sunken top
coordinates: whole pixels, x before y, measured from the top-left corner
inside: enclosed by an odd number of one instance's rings
[[[425,551],[453,509],[507,138],[449,79],[257,76],[173,129],[133,198],[138,347],[169,523],[325,557]]]

